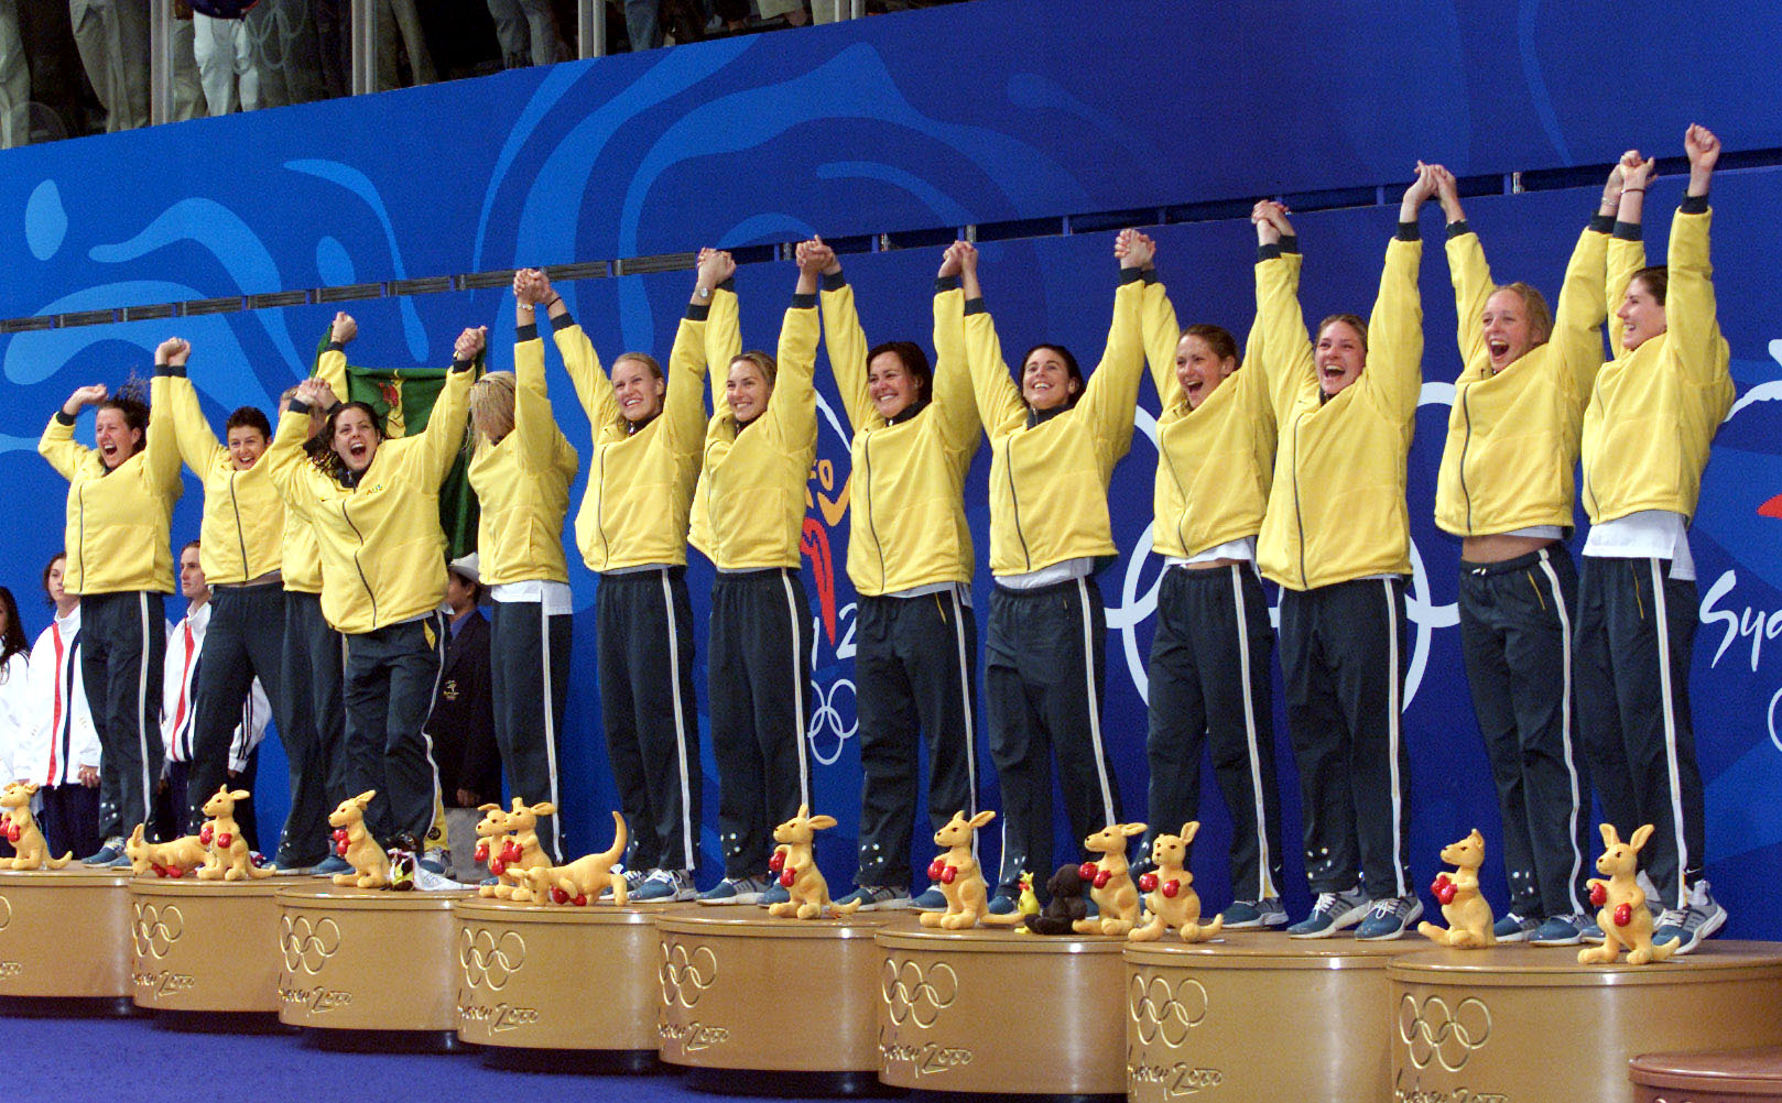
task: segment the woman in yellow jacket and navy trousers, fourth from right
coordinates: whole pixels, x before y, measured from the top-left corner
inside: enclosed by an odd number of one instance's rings
[[[1128,249],[1142,257],[1149,280],[1151,239],[1135,233]],[[1299,255],[1287,264],[1297,278]],[[1205,323],[1180,328],[1164,285],[1146,287],[1146,360],[1162,399],[1151,543],[1164,560],[1146,668],[1146,821],[1155,837],[1199,820],[1206,747],[1231,813],[1235,900],[1221,918],[1237,930],[1287,923],[1269,684],[1274,627],[1256,574],[1274,472],[1262,330],[1251,326],[1240,362],[1231,333]]]

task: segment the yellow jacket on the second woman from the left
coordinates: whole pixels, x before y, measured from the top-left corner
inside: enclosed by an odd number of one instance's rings
[[[180,456],[205,488],[198,561],[212,586],[248,583],[278,570],[283,558],[285,499],[266,463],[235,470],[228,449],[210,431],[198,388],[184,367],[169,369],[173,435]]]

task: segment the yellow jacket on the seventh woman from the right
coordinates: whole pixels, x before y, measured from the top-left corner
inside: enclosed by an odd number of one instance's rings
[[[718,290],[713,298],[716,317],[718,299],[736,296]],[[734,310],[734,303],[723,308]],[[816,388],[811,385],[816,333],[816,296],[795,296],[781,323],[773,396],[761,417],[741,429],[723,385],[713,378],[716,412],[706,428],[706,465],[693,492],[690,538],[723,570],[797,570],[800,565],[805,483],[816,458]],[[723,364],[727,369],[729,360]]]

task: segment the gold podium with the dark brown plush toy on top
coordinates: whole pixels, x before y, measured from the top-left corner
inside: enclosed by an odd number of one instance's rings
[[[879,1080],[936,1092],[1126,1091],[1124,937],[882,930]]]

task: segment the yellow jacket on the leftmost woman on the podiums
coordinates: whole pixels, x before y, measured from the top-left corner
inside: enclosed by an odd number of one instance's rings
[[[96,449],[75,442],[75,419],[64,419],[61,410],[37,440],[37,453],[68,479],[62,584],[69,593],[173,593],[169,529],[173,502],[185,486],[168,412],[169,381],[162,374],[150,381],[143,449],[116,470],[107,470]]]

